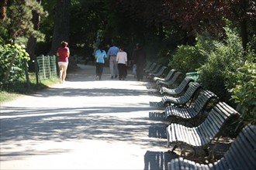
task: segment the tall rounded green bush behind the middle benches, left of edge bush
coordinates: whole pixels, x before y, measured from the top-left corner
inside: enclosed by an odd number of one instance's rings
[[[204,49],[207,62],[198,71],[201,83],[227,101],[230,99],[227,89],[236,86],[234,75],[244,63],[244,49],[237,32],[225,30],[227,38],[223,42],[213,40],[211,49]]]

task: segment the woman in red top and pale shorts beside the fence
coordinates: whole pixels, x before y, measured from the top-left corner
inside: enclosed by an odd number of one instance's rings
[[[69,57],[69,48],[67,42],[61,42],[61,47],[57,49],[58,65],[60,69],[60,83],[64,83],[67,75],[67,65]]]

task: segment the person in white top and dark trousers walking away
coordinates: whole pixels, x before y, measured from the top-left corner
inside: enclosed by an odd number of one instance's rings
[[[126,77],[127,53],[124,51],[123,46],[116,55],[116,63],[118,66],[119,80],[124,80]]]

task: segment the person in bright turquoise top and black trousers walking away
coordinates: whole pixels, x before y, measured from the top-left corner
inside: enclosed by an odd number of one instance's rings
[[[95,51],[96,80],[102,80],[103,67],[105,59],[107,58],[106,51],[102,49],[102,45],[99,45],[98,49]]]

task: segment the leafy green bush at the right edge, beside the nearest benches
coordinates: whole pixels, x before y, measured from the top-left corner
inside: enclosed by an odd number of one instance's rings
[[[237,111],[242,114],[239,121],[240,127],[245,124],[256,124],[256,53],[254,43],[256,36],[252,38],[245,53],[246,60],[234,73],[236,86],[230,89],[232,100],[237,104]]]

